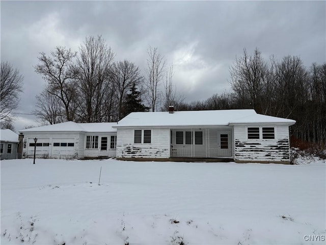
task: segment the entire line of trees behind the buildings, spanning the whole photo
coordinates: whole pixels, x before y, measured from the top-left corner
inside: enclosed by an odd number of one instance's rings
[[[148,47],[142,72],[133,62],[115,61],[115,53],[101,37],[89,36],[77,52],[57,46],[49,56],[41,52],[35,72],[46,81],[36,96],[42,124],[63,121],[118,121],[133,111],[255,109],[257,113],[291,118],[293,139],[326,143],[326,63],[305,67],[298,56],[277,60],[243,50],[230,66],[230,92],[204,101],[185,102],[173,83],[173,64],[167,67],[156,47]],[[1,121],[12,119],[23,77],[1,62]]]

